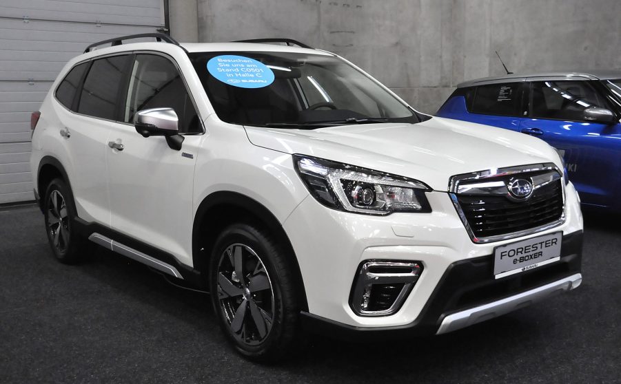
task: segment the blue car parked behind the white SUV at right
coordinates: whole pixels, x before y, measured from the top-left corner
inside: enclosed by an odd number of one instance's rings
[[[545,140],[564,157],[584,206],[621,212],[621,71],[467,81],[436,115]]]

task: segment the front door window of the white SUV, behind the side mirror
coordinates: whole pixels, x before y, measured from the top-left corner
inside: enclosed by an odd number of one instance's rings
[[[201,132],[202,128],[175,65],[163,56],[136,56],[124,120],[133,122],[137,111],[150,108],[172,108],[179,118],[179,131]]]

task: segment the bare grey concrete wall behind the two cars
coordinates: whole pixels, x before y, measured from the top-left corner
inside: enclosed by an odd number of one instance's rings
[[[504,73],[494,50],[513,72],[621,66],[618,0],[170,2],[197,3],[198,41],[298,39],[345,56],[427,113],[457,83]]]

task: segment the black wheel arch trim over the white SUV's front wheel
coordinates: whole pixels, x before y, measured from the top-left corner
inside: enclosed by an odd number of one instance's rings
[[[210,218],[214,220],[210,220]],[[221,230],[234,222],[250,222],[263,225],[283,250],[292,257],[296,275],[298,303],[301,310],[308,310],[302,273],[294,248],[274,214],[256,200],[233,191],[218,191],[208,195],[196,210],[192,226],[192,262],[194,269],[203,273],[209,270],[210,255]]]

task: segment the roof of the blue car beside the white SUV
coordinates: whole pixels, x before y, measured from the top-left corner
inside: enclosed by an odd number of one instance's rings
[[[485,85],[493,83],[514,83],[527,80],[561,80],[562,78],[582,78],[584,80],[609,80],[621,78],[621,70],[590,70],[590,71],[558,71],[558,72],[535,72],[530,74],[508,74],[504,76],[492,76],[476,78],[457,85],[458,88],[472,85]]]

